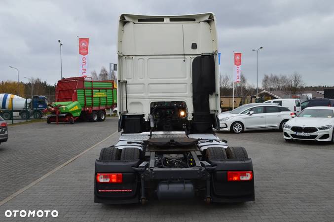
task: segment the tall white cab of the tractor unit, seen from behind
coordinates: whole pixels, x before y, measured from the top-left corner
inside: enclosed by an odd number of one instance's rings
[[[211,132],[220,109],[215,15],[122,14],[119,131]]]

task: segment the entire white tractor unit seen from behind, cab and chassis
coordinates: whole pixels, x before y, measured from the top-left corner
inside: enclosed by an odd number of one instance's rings
[[[122,14],[118,28],[118,142],[95,161],[95,202],[254,200],[252,159],[219,128],[213,13]]]

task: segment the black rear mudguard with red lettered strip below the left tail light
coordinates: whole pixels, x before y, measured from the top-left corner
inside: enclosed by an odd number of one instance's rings
[[[138,183],[138,173],[133,167],[139,165],[140,160],[110,162],[95,161],[94,178],[94,202],[105,204],[128,204],[139,202],[140,186]],[[107,184],[97,183],[98,173],[121,173],[122,183]]]

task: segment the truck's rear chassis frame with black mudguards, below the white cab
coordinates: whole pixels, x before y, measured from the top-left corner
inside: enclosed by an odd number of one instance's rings
[[[172,140],[178,138],[180,132],[154,132],[160,138],[167,136]],[[152,148],[146,144],[141,134],[123,134],[119,142],[111,148],[124,150],[135,148],[141,150],[139,159],[133,160],[101,160],[95,162],[95,202],[106,204],[145,204],[151,198],[188,199],[195,196],[206,203],[211,202],[245,202],[254,200],[254,178],[249,181],[227,181],[227,172],[248,171],[253,175],[253,164],[247,159],[207,159],[208,148],[227,149],[225,141],[220,141],[214,134],[188,135],[198,140],[194,147]],[[142,135],[140,138],[139,135]],[[173,139],[173,136],[176,136]],[[184,134],[186,136],[186,134]],[[129,139],[135,138],[138,139]],[[149,136],[150,138],[152,137]],[[154,134],[153,134],[154,137]],[[203,139],[207,138],[207,139]],[[175,153],[187,151],[193,157],[194,165],[186,168],[157,167],[157,153]],[[100,156],[101,157],[101,156]],[[122,184],[100,184],[98,174],[117,173],[123,175]]]

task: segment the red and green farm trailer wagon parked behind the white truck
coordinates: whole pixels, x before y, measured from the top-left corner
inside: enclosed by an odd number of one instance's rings
[[[44,110],[47,123],[70,122],[81,118],[96,122],[106,119],[106,109],[117,103],[114,81],[93,81],[81,76],[63,78],[56,87],[56,102]]]

